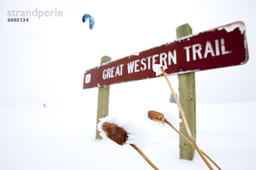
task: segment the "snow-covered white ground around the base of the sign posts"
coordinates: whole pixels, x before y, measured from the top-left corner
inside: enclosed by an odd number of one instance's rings
[[[254,170],[256,165],[256,102],[197,104],[197,144],[223,170]],[[173,103],[133,105],[121,115],[149,135],[138,146],[160,170],[208,169],[195,152],[194,160],[179,159],[179,137],[168,125],[146,118],[150,109],[176,117]],[[128,113],[128,114],[125,114]],[[168,118],[171,119],[171,118]],[[169,120],[172,122],[172,120]],[[177,127],[178,123],[174,123]],[[95,141],[96,113],[75,104],[18,105],[0,108],[1,170],[131,170],[152,169],[129,145]],[[215,168],[217,169],[217,168]]]

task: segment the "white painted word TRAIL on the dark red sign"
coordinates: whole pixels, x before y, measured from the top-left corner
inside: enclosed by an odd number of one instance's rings
[[[216,56],[220,55],[219,40],[214,40],[214,42],[215,42],[215,45],[212,45],[210,41],[206,42],[205,49],[204,49],[204,58],[207,58],[209,54],[212,57],[215,57],[215,55]],[[214,51],[212,46],[215,46],[215,51]],[[196,60],[197,57],[199,59],[202,59],[203,58],[203,55],[202,55],[202,52],[201,52],[202,51],[202,45],[200,43],[197,43],[197,44],[194,44],[192,46],[190,45],[190,46],[187,46],[187,47],[183,48],[183,49],[186,50],[186,61],[187,62],[190,61],[190,49],[191,49],[191,47],[192,47],[192,58],[193,58],[193,60]],[[225,55],[225,54],[230,54],[230,53],[232,53],[232,51],[226,51],[224,38],[221,38],[221,54]]]

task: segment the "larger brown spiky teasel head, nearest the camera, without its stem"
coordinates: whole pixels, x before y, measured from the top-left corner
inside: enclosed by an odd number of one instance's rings
[[[128,139],[128,133],[115,123],[105,122],[102,124],[102,130],[105,131],[106,136],[119,145],[124,145]]]

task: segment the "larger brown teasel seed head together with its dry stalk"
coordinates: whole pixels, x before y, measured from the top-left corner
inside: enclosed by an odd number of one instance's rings
[[[106,136],[112,141],[119,145],[124,145],[128,139],[128,133],[122,127],[119,127],[115,123],[104,122],[102,124],[102,130],[105,131]],[[159,170],[145,155],[144,153],[135,145],[130,144],[138,153],[151,165],[155,170]]]

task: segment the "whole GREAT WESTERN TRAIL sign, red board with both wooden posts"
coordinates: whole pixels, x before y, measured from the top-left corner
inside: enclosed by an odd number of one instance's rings
[[[167,75],[179,74],[180,104],[195,137],[195,71],[247,62],[245,26],[236,22],[192,35],[192,29],[185,24],[177,28],[177,37],[173,42],[116,61],[102,57],[100,66],[84,72],[83,88],[99,87],[97,122],[108,115],[109,85],[154,78],[152,66],[161,64],[168,67]],[[182,124],[180,132],[186,135]],[[99,138],[96,131],[96,139]],[[192,160],[194,147],[187,147],[185,142],[180,140],[180,158]]]

